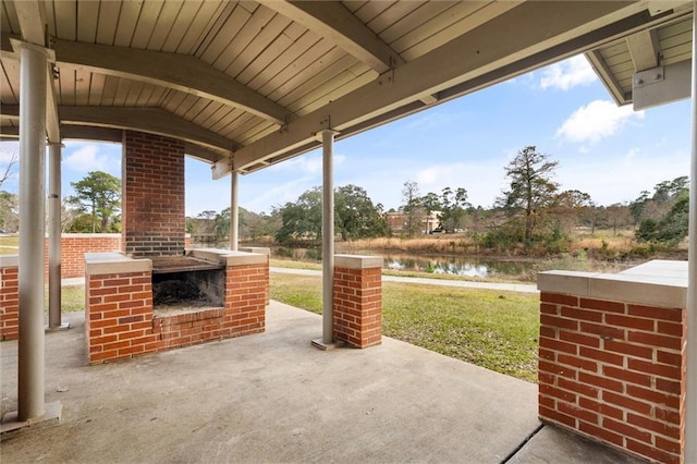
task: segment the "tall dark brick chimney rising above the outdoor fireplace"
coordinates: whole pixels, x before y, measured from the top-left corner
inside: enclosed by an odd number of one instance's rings
[[[184,253],[184,144],[124,131],[123,236],[135,257]]]

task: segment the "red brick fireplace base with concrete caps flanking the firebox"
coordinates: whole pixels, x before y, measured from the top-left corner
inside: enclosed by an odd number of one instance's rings
[[[87,256],[85,330],[90,364],[264,332],[266,256],[225,251],[194,254],[225,262],[224,306],[185,313],[154,310],[149,259]]]

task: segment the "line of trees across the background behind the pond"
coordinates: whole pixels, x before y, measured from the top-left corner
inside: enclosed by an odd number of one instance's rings
[[[687,235],[688,180],[686,176],[657,184],[628,204],[598,206],[589,194],[562,190],[554,181],[559,162],[535,146],[521,149],[504,167],[506,188],[491,208],[474,207],[463,186],[420,194],[418,184],[406,181],[402,204],[384,210],[357,185],[334,191],[334,228],[344,241],[424,232],[465,233],[481,246],[511,249],[563,251],[571,232],[586,228],[610,229],[614,234],[634,228],[635,239],[663,247],[676,246]],[[0,188],[11,166],[0,172]],[[74,195],[64,198],[64,232],[119,232],[121,230],[121,181],[101,171],[72,182]],[[319,244],[321,241],[322,193],[317,186],[295,202],[276,206],[270,213],[240,209],[241,239],[272,237],[279,244]],[[392,218],[393,220],[390,220]],[[435,230],[425,228],[437,218]],[[0,229],[19,227],[17,195],[0,190]],[[186,218],[186,230],[195,236],[217,240],[230,234],[230,208],[206,210]]]

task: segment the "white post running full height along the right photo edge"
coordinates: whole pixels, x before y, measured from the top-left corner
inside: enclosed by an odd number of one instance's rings
[[[687,256],[687,363],[685,368],[685,455],[697,463],[697,0],[693,1],[692,163],[689,171],[689,251]]]

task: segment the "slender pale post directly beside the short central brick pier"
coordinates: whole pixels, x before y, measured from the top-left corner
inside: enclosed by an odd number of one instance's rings
[[[322,343],[334,342],[334,131],[322,131]]]

